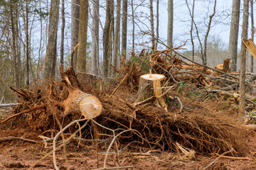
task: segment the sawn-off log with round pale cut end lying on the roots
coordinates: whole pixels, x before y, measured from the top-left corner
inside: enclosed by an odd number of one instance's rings
[[[63,82],[68,87],[68,98],[63,101],[64,114],[69,111],[80,111],[87,119],[95,118],[102,112],[100,100],[80,90],[78,79],[73,68],[70,67],[62,74]]]

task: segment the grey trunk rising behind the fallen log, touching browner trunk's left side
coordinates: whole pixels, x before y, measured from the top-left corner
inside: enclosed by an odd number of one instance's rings
[[[80,0],[72,0],[71,4],[71,50],[78,44]],[[73,69],[76,70],[78,51],[73,54]]]

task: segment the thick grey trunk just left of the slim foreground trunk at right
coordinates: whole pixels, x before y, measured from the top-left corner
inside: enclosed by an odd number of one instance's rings
[[[230,39],[229,39],[229,57],[231,58],[231,72],[235,72],[237,69],[238,60],[238,29],[239,29],[239,17],[240,17],[240,0],[233,0],[232,17],[230,26]]]

